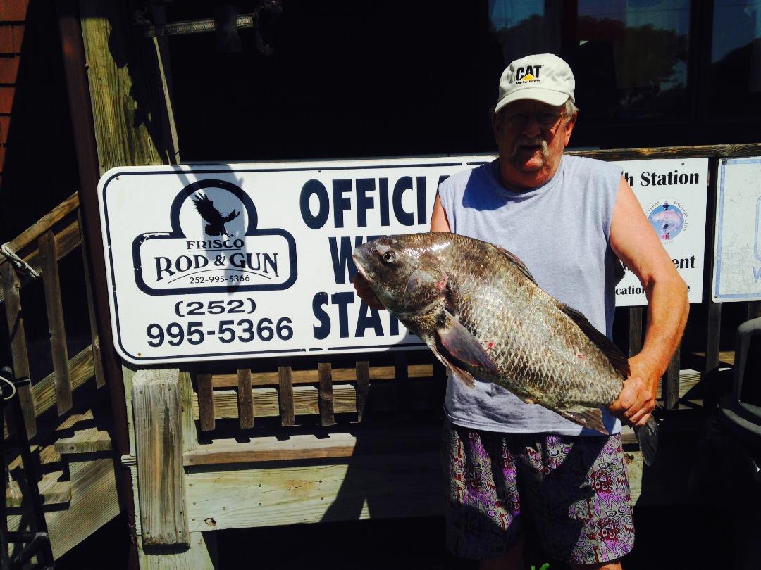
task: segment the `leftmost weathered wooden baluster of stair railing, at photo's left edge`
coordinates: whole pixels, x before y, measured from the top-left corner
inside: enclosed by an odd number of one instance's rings
[[[13,266],[6,263],[2,268],[2,290],[5,295],[5,318],[8,323],[8,336],[11,341],[11,360],[13,361],[14,380],[29,378],[29,356],[27,338],[24,333],[24,313],[21,312],[21,284]],[[25,385],[18,388],[21,410],[24,412],[24,426],[27,436],[37,435],[37,417],[34,413],[32,388]]]

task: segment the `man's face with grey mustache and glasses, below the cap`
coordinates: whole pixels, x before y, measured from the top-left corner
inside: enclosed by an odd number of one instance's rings
[[[563,112],[565,106],[520,100],[493,117],[501,182],[535,188],[555,175],[576,122],[575,116],[568,120]]]

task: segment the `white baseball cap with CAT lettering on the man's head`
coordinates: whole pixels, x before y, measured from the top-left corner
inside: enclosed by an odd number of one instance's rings
[[[516,59],[499,79],[499,97],[494,112],[521,99],[533,99],[560,106],[570,99],[576,80],[568,64],[552,53],[527,55]]]

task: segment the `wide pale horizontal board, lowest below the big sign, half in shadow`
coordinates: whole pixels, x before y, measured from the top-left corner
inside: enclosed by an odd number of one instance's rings
[[[439,451],[245,470],[189,470],[190,530],[441,514]]]

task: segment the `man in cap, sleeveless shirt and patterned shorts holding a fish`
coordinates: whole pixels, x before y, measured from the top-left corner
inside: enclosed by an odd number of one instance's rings
[[[480,568],[524,568],[531,525],[549,556],[573,568],[621,568],[634,527],[621,444],[622,418],[643,426],[676,350],[689,305],[686,285],[642,213],[621,170],[563,156],[578,116],[575,80],[551,54],[512,62],[492,119],[498,160],[444,181],[431,231],[501,245],[540,287],[584,313],[610,337],[616,257],[642,282],[648,325],[619,398],[603,410],[612,435],[525,404],[489,382],[450,376],[444,410],[447,545]],[[359,295],[377,299],[361,277]],[[610,411],[610,413],[608,413]]]

